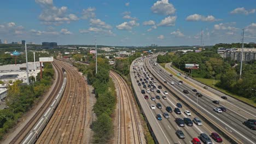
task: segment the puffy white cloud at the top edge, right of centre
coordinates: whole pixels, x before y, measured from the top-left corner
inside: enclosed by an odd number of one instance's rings
[[[171,15],[174,14],[176,11],[176,9],[171,3],[168,2],[168,0],[160,0],[155,2],[154,5],[151,7],[151,10],[153,11],[153,13],[163,15]]]

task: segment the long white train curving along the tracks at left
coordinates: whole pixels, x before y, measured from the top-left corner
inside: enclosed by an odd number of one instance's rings
[[[65,72],[64,72],[64,75],[65,75]],[[36,125],[34,125],[33,129],[27,134],[25,139],[22,141],[22,144],[30,144],[30,143],[36,142],[36,140],[38,139],[38,136],[42,133],[44,127],[49,122],[51,116],[53,116],[53,113],[56,107],[59,105],[60,100],[62,98],[62,94],[66,87],[66,83],[67,83],[67,78],[65,77],[59,93],[54,98],[53,102],[48,107],[48,109],[44,112],[44,115],[39,119]]]

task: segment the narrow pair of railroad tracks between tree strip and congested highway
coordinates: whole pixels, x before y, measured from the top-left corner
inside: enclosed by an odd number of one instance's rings
[[[110,71],[110,76],[113,78],[117,88],[119,101],[119,126],[118,126],[118,143],[144,143],[142,140],[143,133],[139,128],[136,112],[135,100],[131,97],[131,91],[124,79]]]

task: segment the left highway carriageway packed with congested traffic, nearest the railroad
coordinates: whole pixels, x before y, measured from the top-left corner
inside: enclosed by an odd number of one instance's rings
[[[132,81],[132,85],[133,88],[136,92],[137,98],[139,100],[139,103],[142,107],[143,112],[145,113],[148,122],[150,123],[150,127],[152,127],[152,130],[156,136],[156,138],[158,139],[159,143],[191,143],[191,140],[194,137],[199,137],[199,135],[201,133],[206,133],[207,135],[210,135],[214,130],[206,123],[206,122],[202,122],[203,125],[199,126],[196,125],[194,123],[193,126],[188,126],[185,125],[185,127],[179,127],[177,125],[177,123],[175,122],[175,118],[184,118],[184,117],[189,117],[191,120],[194,117],[198,117],[196,116],[196,114],[194,112],[191,112],[191,116],[187,116],[185,115],[184,111],[185,110],[189,110],[189,108],[182,103],[182,101],[178,100],[176,97],[174,97],[171,93],[171,91],[169,91],[169,89],[166,89],[164,86],[162,86],[162,84],[156,79],[155,76],[158,75],[152,75],[150,73],[150,71],[146,68],[146,63],[148,63],[147,58],[146,59],[137,59],[137,61],[134,61],[132,63],[132,65],[134,65],[130,68],[131,71],[131,81]],[[148,64],[148,67],[149,64]],[[133,69],[133,68],[137,68]],[[153,69],[153,68],[152,68]],[[135,73],[134,73],[135,72]],[[145,73],[147,76],[144,76]],[[147,74],[148,73],[148,74]],[[157,74],[157,73],[156,73]],[[139,76],[140,77],[139,77]],[[137,78],[135,78],[135,76]],[[148,77],[148,78],[147,78]],[[150,79],[154,79],[156,80],[154,83],[154,86],[156,86],[156,88],[154,89],[154,92],[150,92],[147,93],[147,89],[148,85],[149,85],[149,81],[153,81]],[[146,83],[147,88],[143,88],[143,85],[138,86],[137,81],[139,81],[139,83],[142,83],[142,81],[140,81],[140,79],[142,79],[143,82],[148,81],[148,83]],[[146,81],[144,80],[146,79]],[[147,80],[148,79],[148,80]],[[158,78],[159,79],[159,78]],[[158,88],[158,86],[162,86],[161,89]],[[141,93],[141,90],[144,89],[146,91],[145,94]],[[156,93],[156,90],[160,90],[161,93]],[[163,92],[167,91],[168,94],[164,94]],[[148,95],[149,99],[145,99],[144,96]],[[160,96],[160,99],[156,99],[155,101],[151,100],[150,98],[152,97],[156,97],[156,95]],[[167,97],[167,99],[163,99],[162,96],[165,95]],[[162,109],[158,109],[158,107],[156,107],[155,110],[150,109],[150,105],[155,105],[159,103],[162,106]],[[182,104],[182,108],[180,108],[181,110],[181,115],[177,115],[173,110],[176,106],[177,103],[181,103]],[[171,106],[172,111],[173,112],[168,112],[168,115],[170,116],[170,118],[165,118],[162,114],[166,111],[166,107],[167,106]],[[162,116],[162,120],[159,121],[156,118],[156,115],[160,114]],[[178,136],[176,135],[176,131],[177,130],[182,130],[184,135],[185,135],[185,139],[179,139]],[[213,142],[214,140],[211,139]],[[227,140],[223,139],[223,143],[230,143]]]

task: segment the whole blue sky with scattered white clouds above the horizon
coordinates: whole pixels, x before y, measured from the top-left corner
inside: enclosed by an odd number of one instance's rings
[[[146,46],[256,42],[256,1],[9,0],[0,39]],[[250,37],[250,38],[248,38]]]

